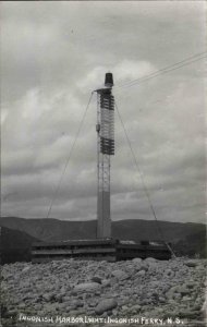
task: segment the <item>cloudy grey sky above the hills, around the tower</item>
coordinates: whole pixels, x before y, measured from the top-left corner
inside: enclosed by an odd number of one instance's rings
[[[1,2],[3,216],[47,217],[110,71],[158,219],[205,221],[205,59],[127,84],[206,51],[205,11],[204,1]],[[95,124],[96,95],[50,217],[96,218]],[[112,219],[153,219],[117,113],[115,146]]]

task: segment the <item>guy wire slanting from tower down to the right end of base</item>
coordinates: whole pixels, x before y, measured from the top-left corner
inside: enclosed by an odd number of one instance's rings
[[[136,167],[136,169],[137,169],[137,171],[138,171],[138,174],[139,174],[139,177],[141,177],[141,181],[142,181],[142,184],[143,184],[143,187],[144,187],[146,197],[147,197],[147,199],[148,199],[149,207],[150,207],[151,213],[153,213],[153,216],[154,216],[154,218],[155,218],[156,227],[157,227],[158,233],[159,233],[160,238],[162,239],[162,241],[165,242],[165,244],[167,245],[167,247],[169,249],[169,251],[171,252],[172,256],[175,257],[175,254],[174,254],[173,250],[171,249],[171,246],[169,245],[169,243],[166,241],[166,239],[165,239],[165,237],[163,237],[163,232],[162,232],[162,230],[161,230],[161,228],[160,228],[159,220],[158,220],[158,218],[157,218],[157,215],[156,215],[156,211],[155,211],[153,202],[151,202],[151,199],[150,199],[150,195],[149,195],[149,192],[148,192],[148,190],[147,190],[147,186],[146,186],[146,183],[145,183],[144,175],[143,175],[143,173],[142,173],[142,171],[141,171],[141,168],[139,168],[137,158],[136,158],[135,153],[134,153],[134,150],[133,150],[133,147],[132,147],[130,137],[129,137],[129,135],[127,135],[125,125],[124,125],[124,123],[123,123],[121,113],[120,113],[120,111],[119,111],[119,108],[118,108],[117,102],[114,102],[114,105],[115,105],[117,112],[118,112],[119,119],[120,119],[120,121],[121,121],[122,128],[123,128],[123,130],[124,130],[124,134],[125,134],[126,141],[127,141],[129,147],[130,147],[130,149],[131,149],[131,154],[132,154],[132,157],[133,157],[135,167]]]

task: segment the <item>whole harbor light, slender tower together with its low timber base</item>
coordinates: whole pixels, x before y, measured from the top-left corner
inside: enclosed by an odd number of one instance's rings
[[[96,238],[77,238],[60,242],[38,242],[32,246],[32,262],[47,263],[53,259],[73,257],[115,262],[146,258],[169,259],[171,252],[165,242],[113,239],[110,213],[110,168],[114,156],[114,98],[112,95],[113,75],[107,73],[105,85],[97,93],[97,232]],[[117,106],[115,106],[117,108]]]

